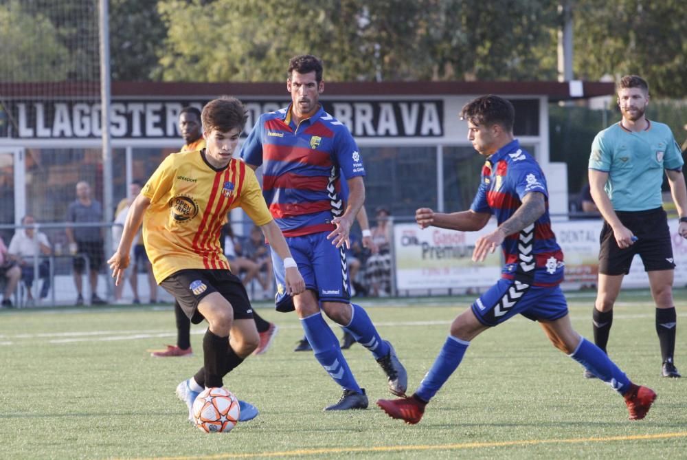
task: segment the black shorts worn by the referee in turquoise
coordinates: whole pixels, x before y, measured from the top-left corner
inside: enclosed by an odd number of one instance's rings
[[[668,218],[663,208],[647,211],[616,211],[622,225],[626,226],[637,237],[629,248],[620,249],[613,234],[613,229],[604,222],[599,237],[599,273],[605,275],[622,275],[630,272],[630,265],[635,254],[640,254],[644,270],[673,270],[673,245]]]

